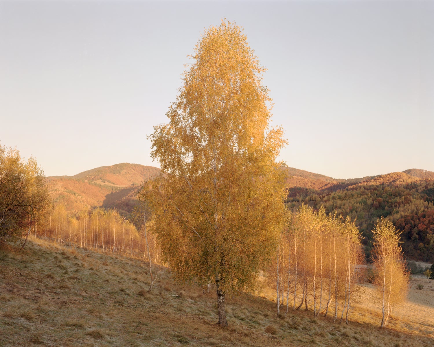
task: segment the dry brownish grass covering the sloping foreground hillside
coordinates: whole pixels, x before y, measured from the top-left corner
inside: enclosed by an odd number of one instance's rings
[[[221,329],[215,288],[178,285],[161,268],[148,292],[146,265],[42,240],[0,249],[0,346],[432,346],[432,329],[416,334],[400,311],[380,330],[375,306],[355,307],[351,318],[361,323],[346,326],[310,311],[276,317],[272,301],[247,294],[228,298],[230,326]],[[411,289],[411,300],[419,300],[413,291],[434,293],[429,285]]]

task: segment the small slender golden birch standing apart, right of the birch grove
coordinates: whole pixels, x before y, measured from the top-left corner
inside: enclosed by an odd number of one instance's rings
[[[373,233],[372,259],[375,267],[374,284],[381,302],[382,319],[385,327],[392,306],[404,301],[408,291],[408,270],[399,245],[400,233],[388,219],[378,221]]]

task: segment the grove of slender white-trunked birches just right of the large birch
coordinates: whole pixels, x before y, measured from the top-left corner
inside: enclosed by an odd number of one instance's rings
[[[327,216],[322,208],[307,205],[296,213],[287,211],[286,228],[280,235],[269,278],[274,283],[277,313],[286,303],[299,310],[304,304],[313,315],[334,314],[334,321],[348,324],[349,308],[362,278],[364,253],[354,221]],[[331,307],[334,302],[333,307]]]

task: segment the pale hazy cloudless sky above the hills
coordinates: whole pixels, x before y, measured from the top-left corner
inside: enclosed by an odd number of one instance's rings
[[[48,176],[158,166],[146,135],[223,18],[268,68],[290,167],[434,171],[434,1],[0,0],[0,142]]]

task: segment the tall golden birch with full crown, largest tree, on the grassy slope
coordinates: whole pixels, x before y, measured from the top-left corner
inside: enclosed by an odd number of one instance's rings
[[[166,260],[178,278],[215,281],[220,326],[225,295],[255,285],[283,228],[285,144],[270,128],[270,97],[242,30],[204,32],[168,124],[150,139],[161,177],[142,194]]]

